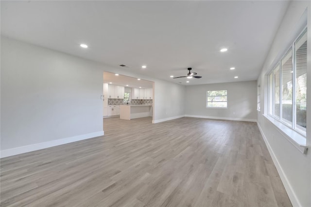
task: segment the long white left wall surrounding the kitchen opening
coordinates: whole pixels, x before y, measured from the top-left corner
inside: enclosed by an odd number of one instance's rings
[[[138,77],[1,36],[1,157],[102,135],[104,71]],[[185,86],[139,77],[155,83],[155,122],[184,115]]]

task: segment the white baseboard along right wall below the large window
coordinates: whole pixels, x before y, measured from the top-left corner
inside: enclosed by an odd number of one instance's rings
[[[292,202],[292,205],[294,207],[301,207],[301,204],[300,204],[300,202],[299,202],[299,200],[298,200],[298,198],[297,198],[297,196],[296,196],[296,194],[295,194],[295,192],[294,192],[290,182],[288,181],[287,176],[286,176],[286,174],[283,171],[283,168],[281,167],[280,163],[278,162],[278,160],[276,158],[276,155],[273,152],[273,149],[271,148],[271,146],[269,144],[268,139],[264,135],[264,133],[263,133],[263,131],[262,131],[258,121],[257,121],[257,125],[258,125],[259,131],[261,133],[261,136],[262,136],[264,142],[266,143],[268,151],[269,151],[269,153],[270,153],[270,155],[272,157],[273,163],[276,166],[276,170],[277,170],[278,174],[280,175],[280,178],[281,178],[282,183],[284,185],[284,188],[285,188],[285,190],[286,190],[286,192],[288,194],[288,197],[290,198],[290,200]]]

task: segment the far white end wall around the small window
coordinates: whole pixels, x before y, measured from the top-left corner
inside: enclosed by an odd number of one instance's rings
[[[227,108],[206,108],[207,90],[227,90]],[[186,115],[228,120],[256,121],[256,81],[207,84],[186,87]]]

